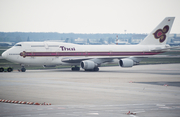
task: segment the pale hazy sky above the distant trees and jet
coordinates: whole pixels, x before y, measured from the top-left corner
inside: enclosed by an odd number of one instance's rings
[[[180,0],[0,0],[0,32],[180,33]]]

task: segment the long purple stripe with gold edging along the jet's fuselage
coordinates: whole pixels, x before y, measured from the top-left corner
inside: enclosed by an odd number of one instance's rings
[[[22,52],[23,57],[41,56],[137,56],[137,55],[156,55],[161,52]]]

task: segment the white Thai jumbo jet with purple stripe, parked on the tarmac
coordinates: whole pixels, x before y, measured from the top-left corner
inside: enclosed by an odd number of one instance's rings
[[[19,42],[2,53],[8,61],[25,65],[55,67],[71,65],[72,71],[99,71],[101,64],[117,59],[127,68],[139,64],[146,57],[166,52],[166,44],[175,17],[166,17],[137,45],[77,45],[63,42]]]

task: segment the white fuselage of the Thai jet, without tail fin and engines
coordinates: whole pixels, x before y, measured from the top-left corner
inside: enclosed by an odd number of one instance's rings
[[[23,65],[78,65],[66,63],[62,59],[76,58],[122,58],[130,56],[155,55],[153,49],[165,48],[165,45],[76,45],[62,42],[21,42],[3,53],[9,61]]]

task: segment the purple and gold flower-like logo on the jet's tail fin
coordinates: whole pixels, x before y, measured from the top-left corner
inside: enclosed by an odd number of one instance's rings
[[[163,29],[158,29],[155,33],[153,33],[154,38],[159,39],[159,42],[162,43],[166,39],[166,33],[169,31],[169,26],[164,26]]]

